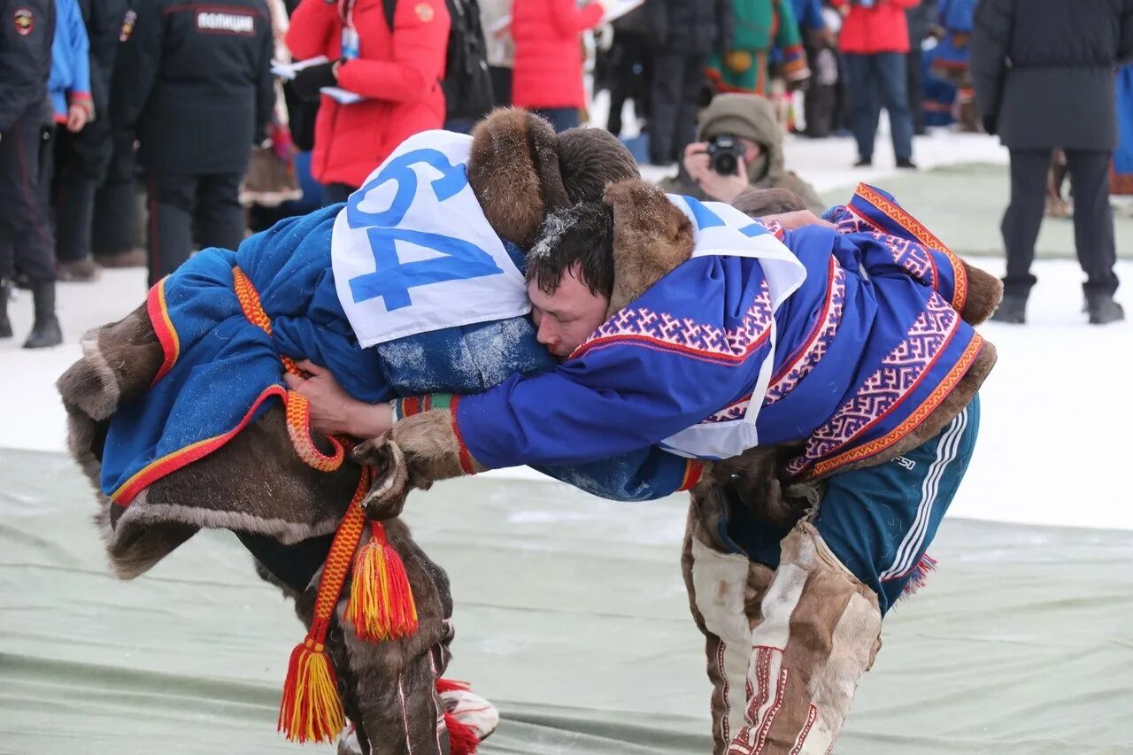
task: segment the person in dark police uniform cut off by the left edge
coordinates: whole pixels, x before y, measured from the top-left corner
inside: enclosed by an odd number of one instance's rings
[[[54,238],[39,186],[40,143],[51,118],[48,77],[54,32],[54,0],[0,0],[0,338],[12,336],[8,292],[18,262],[35,306],[25,348],[62,341]]]

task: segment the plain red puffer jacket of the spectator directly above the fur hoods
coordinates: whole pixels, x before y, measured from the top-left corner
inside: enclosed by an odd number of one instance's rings
[[[516,0],[511,39],[516,42],[512,104],[525,108],[582,108],[582,32],[602,20],[602,6],[579,9],[574,0]]]

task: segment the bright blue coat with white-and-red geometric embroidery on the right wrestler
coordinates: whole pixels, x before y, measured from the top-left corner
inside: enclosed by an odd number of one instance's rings
[[[553,372],[462,398],[462,442],[488,468],[579,464],[751,409],[759,444],[801,443],[787,464],[795,477],[884,453],[940,405],[983,341],[959,314],[962,263],[891,196],[863,186],[828,218],[836,231],[781,231],[807,278],[774,312],[759,260],[693,257]],[[753,399],[768,356],[768,389]]]

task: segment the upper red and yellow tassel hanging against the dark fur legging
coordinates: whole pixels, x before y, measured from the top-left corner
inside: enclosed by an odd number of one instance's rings
[[[369,524],[369,542],[355,558],[347,619],[363,639],[408,637],[417,631],[417,603],[406,565],[382,523]]]

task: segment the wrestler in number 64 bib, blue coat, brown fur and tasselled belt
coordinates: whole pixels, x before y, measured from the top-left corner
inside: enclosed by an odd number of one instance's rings
[[[444,713],[468,694],[438,682],[452,636],[444,571],[401,523],[364,521],[367,469],[346,441],[309,432],[284,370],[310,358],[356,398],[380,401],[551,368],[525,316],[520,249],[547,211],[636,175],[605,132],[556,136],[522,111],[496,113],[474,138],[421,134],[346,207],[284,221],[237,252],[201,252],[131,315],[84,339],[59,389],[116,574],[143,574],[201,527],[236,532],[310,629],[281,710],[290,737],[341,729],[341,714],[310,703],[327,685],[304,687],[317,659],[338,671],[364,752],[467,752],[450,743]],[[419,316],[426,302],[449,306],[431,320]],[[548,472],[637,499],[688,487],[699,469],[645,449]],[[394,586],[375,593],[369,567]],[[465,709],[471,733],[491,732],[492,714]]]

